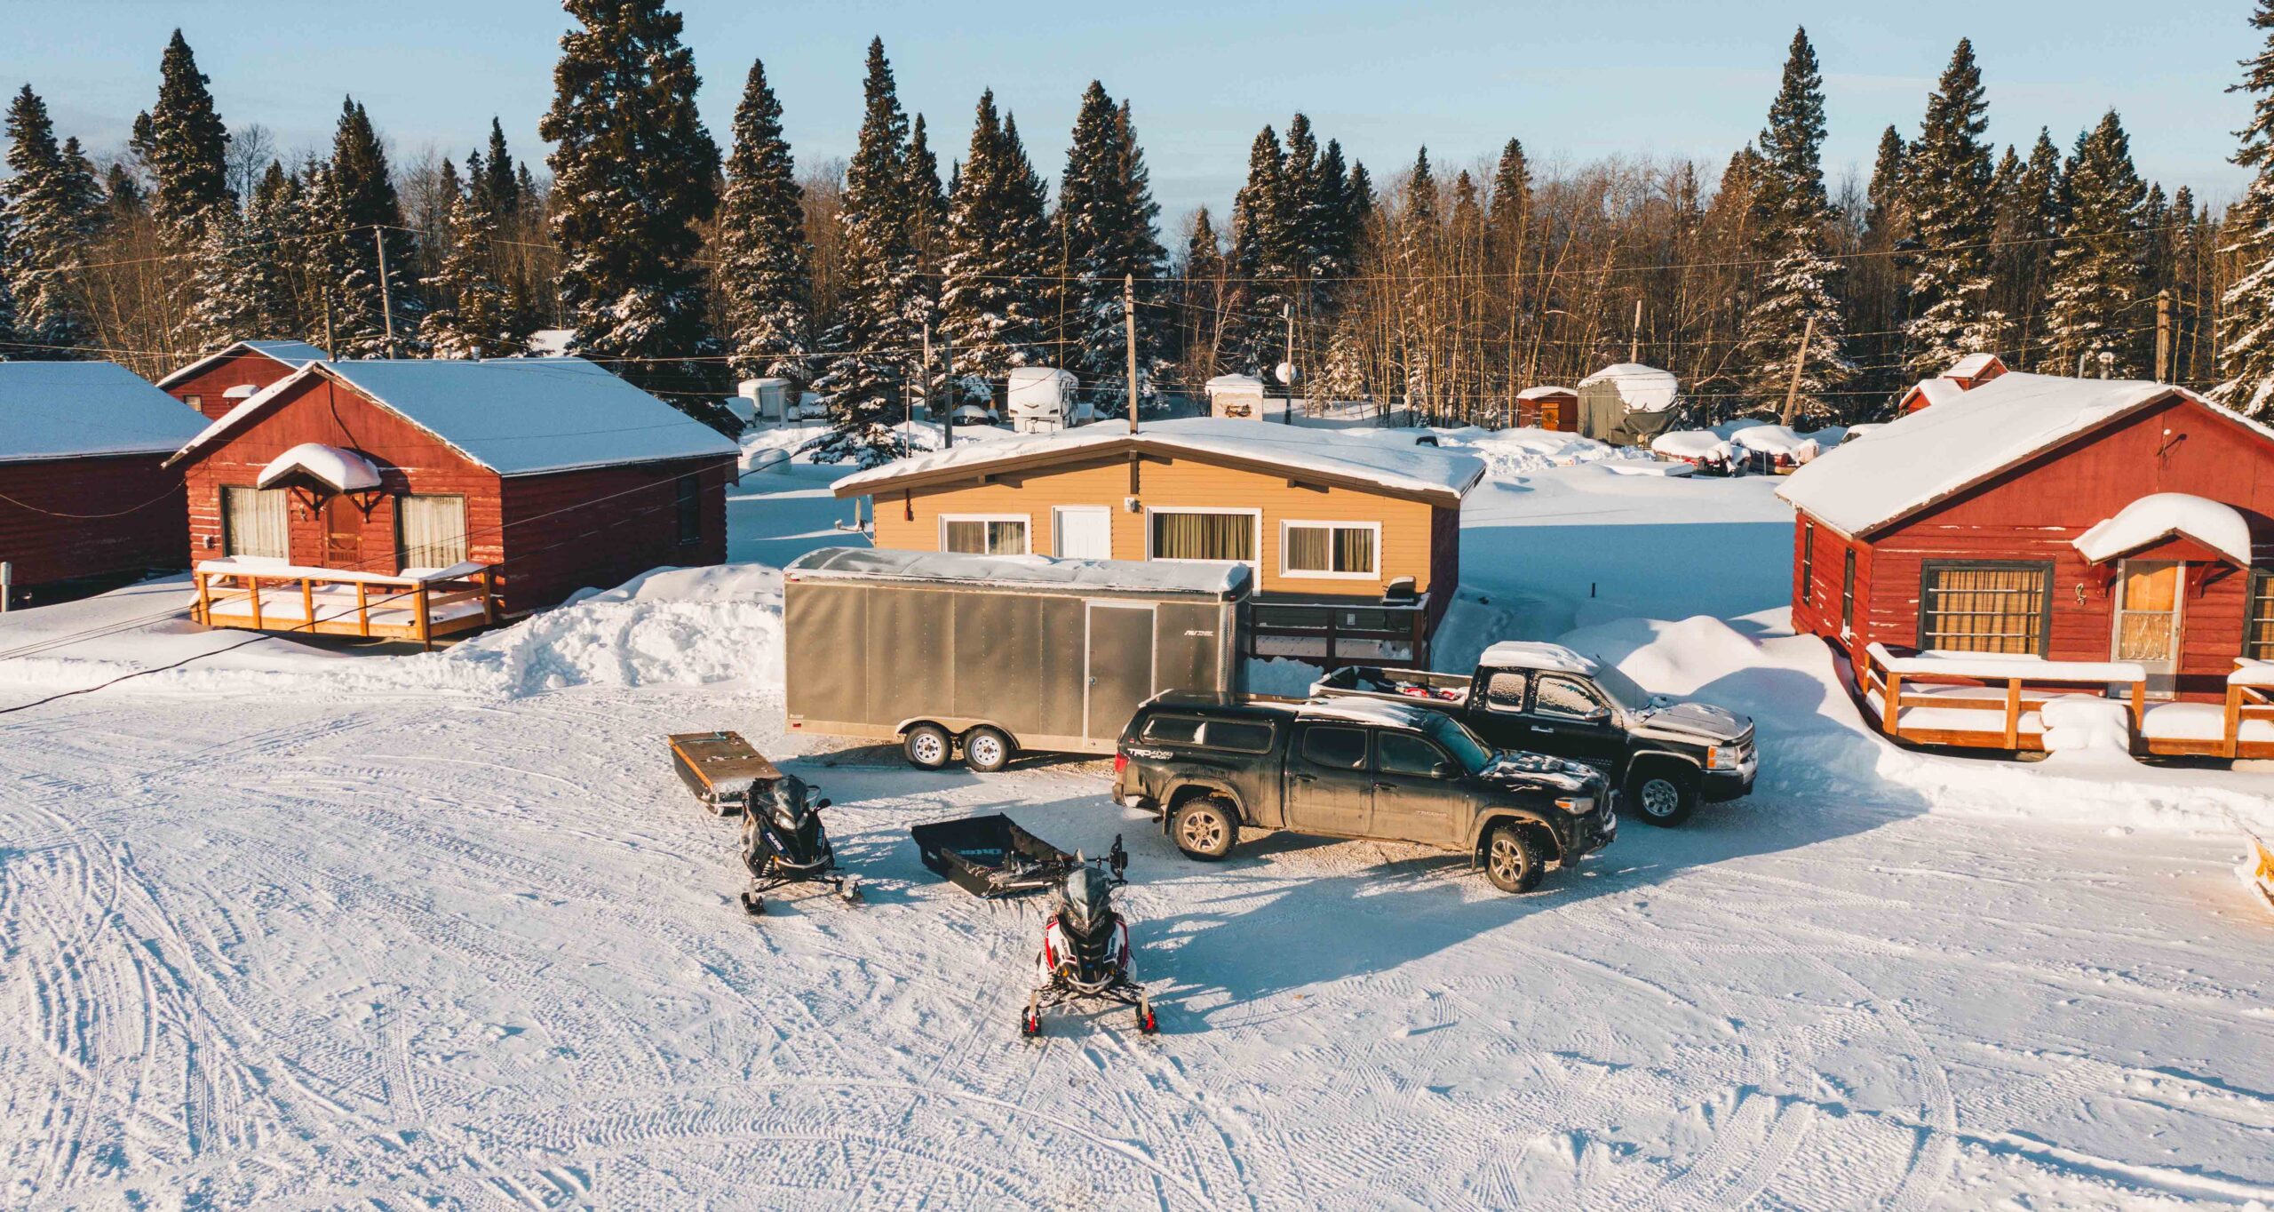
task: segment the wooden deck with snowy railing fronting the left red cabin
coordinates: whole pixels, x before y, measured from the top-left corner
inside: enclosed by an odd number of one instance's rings
[[[198,600],[189,616],[207,628],[402,639],[432,648],[441,637],[498,621],[498,573],[482,564],[377,575],[209,559],[193,575]]]

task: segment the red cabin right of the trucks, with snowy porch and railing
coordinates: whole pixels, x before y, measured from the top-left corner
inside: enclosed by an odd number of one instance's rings
[[[1846,653],[1883,730],[2040,748],[2044,698],[2115,687],[2149,753],[2274,755],[2274,430],[2178,387],[2003,373],[1778,496],[1792,625]]]

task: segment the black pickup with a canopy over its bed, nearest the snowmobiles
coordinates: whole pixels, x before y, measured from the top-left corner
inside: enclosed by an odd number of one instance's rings
[[[1160,694],[1121,732],[1114,798],[1196,860],[1228,855],[1242,828],[1419,841],[1471,855],[1501,891],[1619,832],[1592,766],[1499,753],[1453,716],[1371,700]]]

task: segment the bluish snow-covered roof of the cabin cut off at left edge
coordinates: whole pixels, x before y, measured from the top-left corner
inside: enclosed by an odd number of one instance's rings
[[[166,455],[202,425],[116,362],[0,362],[0,462]]]

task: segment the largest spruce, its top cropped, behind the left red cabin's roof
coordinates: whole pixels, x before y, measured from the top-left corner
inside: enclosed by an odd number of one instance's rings
[[[703,287],[719,146],[696,114],[694,52],[662,0],[566,0],[553,107],[553,241],[575,350],[689,416],[737,430]]]

